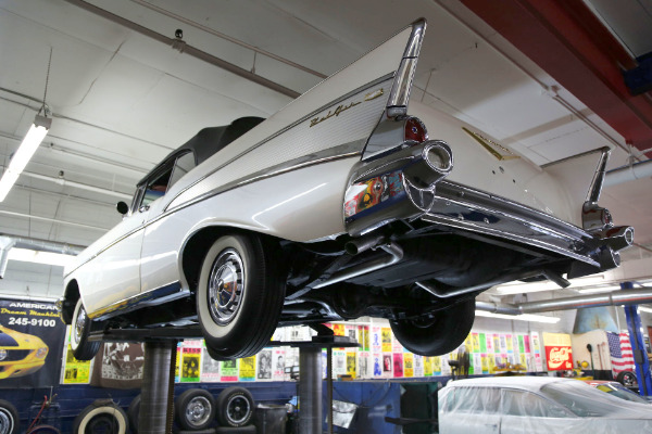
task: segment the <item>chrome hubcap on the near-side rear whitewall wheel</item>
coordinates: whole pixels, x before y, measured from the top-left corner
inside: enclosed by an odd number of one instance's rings
[[[209,307],[217,324],[228,324],[238,312],[243,295],[244,269],[238,252],[222,252],[211,270],[209,279]]]

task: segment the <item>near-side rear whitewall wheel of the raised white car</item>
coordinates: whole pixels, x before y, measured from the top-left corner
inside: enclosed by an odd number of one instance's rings
[[[197,288],[197,315],[214,359],[250,357],[268,344],[285,298],[271,242],[256,234],[220,238]]]

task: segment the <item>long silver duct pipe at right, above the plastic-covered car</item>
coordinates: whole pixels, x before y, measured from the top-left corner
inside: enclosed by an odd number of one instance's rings
[[[604,294],[579,295],[576,297],[544,299],[523,303],[518,306],[504,303],[476,302],[476,309],[491,314],[522,315],[556,310],[581,309],[599,306],[628,306],[652,303],[652,289],[622,290]]]

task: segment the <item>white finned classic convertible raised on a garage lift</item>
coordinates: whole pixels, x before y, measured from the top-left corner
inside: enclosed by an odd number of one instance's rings
[[[475,296],[512,280],[617,267],[632,229],[476,128],[408,102],[426,23],[266,120],[206,128],[137,187],[123,221],[65,270],[78,359],[102,329],[199,323],[215,358],[277,326],[390,320],[410,350],[467,335]],[[453,168],[453,155],[455,166]]]

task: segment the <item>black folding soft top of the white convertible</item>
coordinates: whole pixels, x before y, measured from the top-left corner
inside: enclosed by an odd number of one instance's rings
[[[138,184],[146,182],[146,180],[151,178],[152,174],[159,171],[162,166],[165,166],[167,162],[170,162],[170,159],[176,158],[188,150],[195,153],[195,163],[200,165],[211,155],[224,149],[227,144],[238,139],[263,120],[265,119],[262,117],[247,116],[237,118],[230,123],[230,125],[203,128],[186,143],[167,154],[167,156],[142,178]]]

